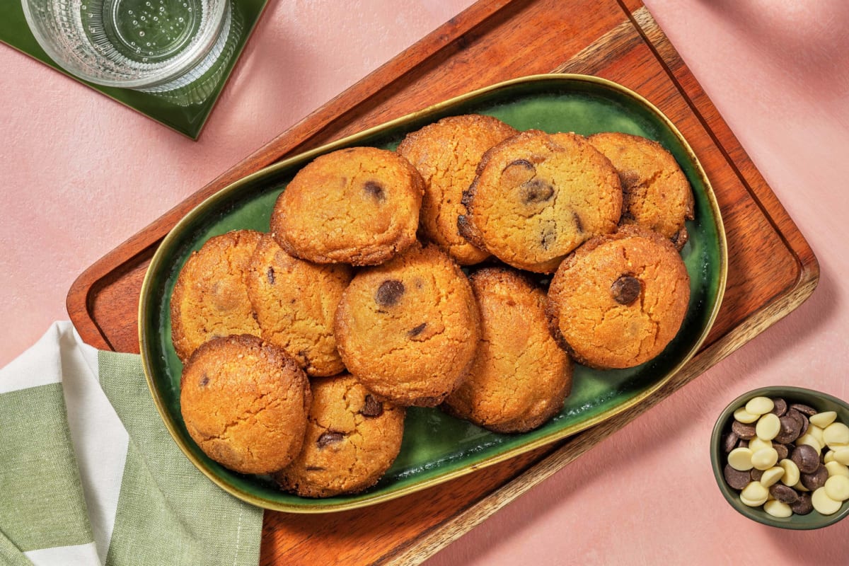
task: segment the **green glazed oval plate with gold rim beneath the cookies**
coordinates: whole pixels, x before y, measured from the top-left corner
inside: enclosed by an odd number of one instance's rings
[[[357,495],[305,499],[277,490],[265,477],[235,474],[195,446],[180,416],[182,365],[171,346],[169,300],[188,255],[208,238],[239,228],[267,231],[274,201],[303,165],[319,154],[369,145],[395,149],[408,132],[459,114],[493,115],[520,130],[618,131],[649,137],[672,152],[694,189],[695,218],[682,254],[690,276],[690,303],[678,336],[653,361],[628,370],[576,366],[563,411],[526,434],[494,434],[438,409],[408,411],[400,455],[384,478]],[[257,171],[205,200],[160,244],[144,279],[139,339],[150,391],[166,427],[186,456],[217,485],[260,507],[322,513],[363,507],[411,493],[562,439],[643,401],[694,355],[717,316],[725,289],[727,255],[722,219],[711,185],[689,144],[661,112],[635,92],[593,76],[543,75],[507,81],[453,98]]]

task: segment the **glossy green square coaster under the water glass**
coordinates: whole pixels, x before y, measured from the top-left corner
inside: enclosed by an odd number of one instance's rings
[[[133,91],[126,88],[101,87],[70,75],[58,64],[53,63],[53,59],[50,59],[48,54],[44,53],[44,50],[38,45],[36,38],[26,24],[24,9],[21,8],[20,0],[0,2],[0,42],[7,43],[20,52],[50,65],[60,73],[104,93],[109,98],[137,110],[177,132],[197,139],[266,3],[267,0],[231,0],[230,5],[233,10],[232,36],[228,39],[228,47],[225,48],[232,50],[229,62],[222,65],[214,76],[208,78],[203,88],[194,89],[193,92],[188,93],[180,91],[153,93]]]

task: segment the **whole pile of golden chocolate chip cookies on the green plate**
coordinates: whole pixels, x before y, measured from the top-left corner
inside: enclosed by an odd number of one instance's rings
[[[460,115],[395,152],[324,154],[269,233],[211,238],[183,266],[171,322],[188,432],[228,468],[332,496],[391,466],[407,406],[535,429],[562,408],[572,360],[637,366],[678,333],[692,216],[672,155],[622,133]]]

